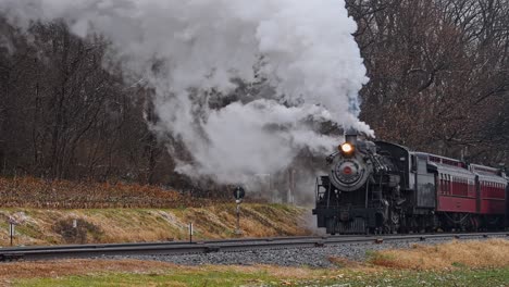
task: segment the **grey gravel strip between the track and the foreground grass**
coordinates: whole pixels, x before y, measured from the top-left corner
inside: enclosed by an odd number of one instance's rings
[[[492,237],[493,238],[493,237]],[[469,239],[485,239],[483,237]],[[156,260],[172,262],[181,265],[203,265],[203,264],[224,264],[224,265],[254,265],[270,264],[283,266],[311,266],[330,267],[333,266],[330,258],[344,258],[355,261],[363,261],[367,258],[367,251],[383,249],[404,249],[411,248],[414,244],[437,245],[449,241],[448,239],[427,239],[418,240],[398,240],[385,241],[376,245],[373,242],[346,244],[336,246],[325,246],[318,248],[301,249],[275,249],[241,252],[216,252],[204,254],[185,254],[185,255],[136,255],[129,259]],[[115,259],[119,259],[116,257]],[[125,259],[125,257],[122,257]]]

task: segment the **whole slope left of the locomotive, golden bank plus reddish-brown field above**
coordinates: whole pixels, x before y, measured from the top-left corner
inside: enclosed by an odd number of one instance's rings
[[[306,212],[243,203],[240,227],[249,237],[302,235]],[[179,240],[189,223],[197,239],[227,238],[236,226],[234,204],[161,187],[0,177],[0,246],[9,244],[10,216],[20,222],[15,245]]]

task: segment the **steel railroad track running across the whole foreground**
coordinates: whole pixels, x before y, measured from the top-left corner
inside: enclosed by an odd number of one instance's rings
[[[299,236],[151,244],[75,245],[0,249],[0,261],[97,258],[113,255],[177,255],[188,253],[236,252],[262,249],[313,248],[356,242],[383,244],[396,240],[468,239],[509,236],[509,233],[411,234],[384,236]]]

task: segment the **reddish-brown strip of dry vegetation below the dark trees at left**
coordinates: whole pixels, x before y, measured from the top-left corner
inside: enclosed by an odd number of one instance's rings
[[[0,177],[0,207],[37,209],[202,207],[210,201],[174,190],[137,184],[48,182],[34,177]]]

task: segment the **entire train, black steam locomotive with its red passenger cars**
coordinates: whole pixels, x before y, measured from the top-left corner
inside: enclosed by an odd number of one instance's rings
[[[318,226],[327,234],[486,230],[507,226],[508,177],[349,132],[316,178]]]

